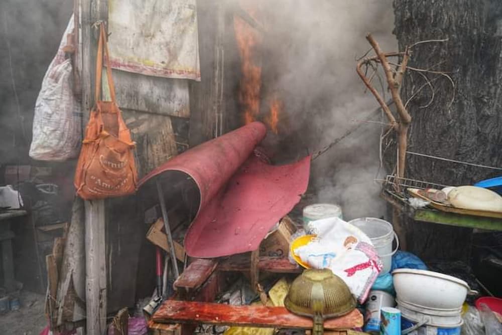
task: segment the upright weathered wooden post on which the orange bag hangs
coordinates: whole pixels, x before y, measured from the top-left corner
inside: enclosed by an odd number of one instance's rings
[[[92,26],[107,21],[107,0],[79,0],[80,67],[84,121],[94,104],[94,76],[98,36]],[[86,123],[86,122],[85,122]],[[106,332],[106,245],[104,200],[85,201],[85,303],[87,334]]]

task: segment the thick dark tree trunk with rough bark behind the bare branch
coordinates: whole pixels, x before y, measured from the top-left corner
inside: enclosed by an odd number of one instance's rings
[[[415,46],[408,65],[448,72],[455,83],[453,89],[448,77],[423,73],[431,89],[423,76],[407,71],[401,91],[405,103],[424,86],[407,106],[413,118],[408,150],[502,166],[502,2],[395,0],[394,11],[400,50],[418,41],[448,39]],[[389,159],[395,154],[386,153]],[[489,169],[407,155],[407,178],[471,185],[496,175]],[[408,246],[425,259],[465,258],[470,234],[468,229],[410,222]]]

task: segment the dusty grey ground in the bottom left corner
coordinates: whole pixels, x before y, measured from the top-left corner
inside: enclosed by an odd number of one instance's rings
[[[47,325],[44,295],[21,291],[21,308],[0,315],[0,334],[38,335]]]

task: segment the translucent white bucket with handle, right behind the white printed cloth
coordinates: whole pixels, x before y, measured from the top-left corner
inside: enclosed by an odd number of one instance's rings
[[[384,263],[380,274],[382,275],[391,271],[392,255],[399,248],[399,239],[392,225],[385,220],[376,218],[359,218],[351,220],[348,223],[362,230],[369,237],[371,243],[373,243],[376,252],[378,252]],[[396,239],[396,249],[392,250],[392,241],[394,239]]]

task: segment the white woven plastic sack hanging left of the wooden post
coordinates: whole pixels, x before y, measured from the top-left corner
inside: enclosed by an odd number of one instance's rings
[[[66,36],[73,30],[68,23],[59,50],[49,65],[35,104],[30,157],[38,160],[66,160],[78,156],[82,141],[80,103],[73,94],[73,67],[65,59]]]

